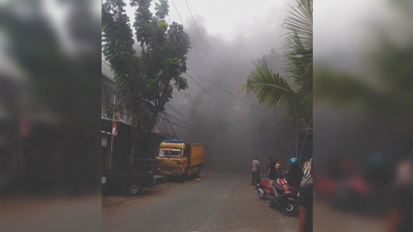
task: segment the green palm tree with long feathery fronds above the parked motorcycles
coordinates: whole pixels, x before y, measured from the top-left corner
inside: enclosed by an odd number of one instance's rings
[[[260,104],[281,108],[297,125],[309,127],[313,117],[313,0],[296,1],[297,8],[292,7],[283,24],[290,31],[283,44],[292,84],[263,61],[250,73],[245,89]]]

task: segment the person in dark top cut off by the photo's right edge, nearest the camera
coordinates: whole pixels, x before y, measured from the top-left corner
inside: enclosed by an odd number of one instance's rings
[[[313,169],[310,169],[313,177]],[[313,232],[313,183],[305,184],[298,194],[300,207],[299,232]]]

